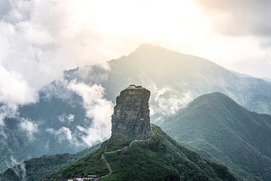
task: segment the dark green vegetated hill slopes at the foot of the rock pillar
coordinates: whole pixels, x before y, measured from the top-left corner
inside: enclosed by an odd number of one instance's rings
[[[112,173],[99,180],[236,180],[225,166],[210,162],[181,146],[158,126],[152,124],[151,127],[155,136],[150,141],[134,142],[128,150],[104,154]],[[101,159],[105,145],[107,143],[106,150],[110,151],[117,147],[112,146],[114,143],[123,146],[119,144],[122,140],[127,140],[123,134],[112,136],[99,150],[68,166],[62,175],[106,175],[109,170]]]

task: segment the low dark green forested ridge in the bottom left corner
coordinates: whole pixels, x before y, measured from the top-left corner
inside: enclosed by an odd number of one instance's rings
[[[100,145],[101,143],[91,148],[82,150],[77,154],[64,153],[49,156],[44,155],[39,158],[32,158],[28,161],[24,161],[20,165],[16,165],[13,168],[9,168],[5,172],[1,173],[0,180],[2,178],[5,181],[18,181],[24,180],[25,178],[25,180],[28,181],[40,181],[44,177],[55,178],[57,175],[61,175],[61,172],[64,170],[65,167],[75,162],[79,158],[97,150]],[[15,170],[19,170],[20,174],[17,175],[15,173]]]

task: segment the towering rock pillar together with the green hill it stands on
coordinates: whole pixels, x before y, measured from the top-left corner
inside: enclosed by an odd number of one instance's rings
[[[138,87],[138,88],[137,88]],[[236,180],[223,165],[200,157],[150,127],[150,91],[130,85],[116,99],[112,136],[93,154],[62,172],[99,174],[99,180]]]

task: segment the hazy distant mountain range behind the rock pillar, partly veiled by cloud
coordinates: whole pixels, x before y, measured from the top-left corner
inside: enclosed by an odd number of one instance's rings
[[[112,107],[110,103],[115,104],[115,97],[129,84],[150,89],[151,120],[158,125],[194,98],[212,92],[221,92],[250,111],[271,114],[271,82],[239,77],[209,60],[142,44],[128,56],[105,64],[64,71],[63,78],[40,91],[38,103],[19,107],[20,118],[6,118],[5,135],[0,135],[0,171],[15,160],[76,153],[109,138],[110,132],[88,131],[95,126],[91,110],[103,104]],[[28,123],[35,129],[23,129]]]

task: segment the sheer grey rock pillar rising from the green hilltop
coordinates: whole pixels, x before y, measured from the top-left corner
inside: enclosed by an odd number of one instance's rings
[[[121,91],[112,115],[112,135],[125,133],[136,139],[148,137],[151,131],[150,95],[146,88],[126,88]]]

